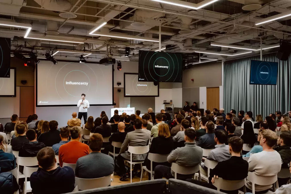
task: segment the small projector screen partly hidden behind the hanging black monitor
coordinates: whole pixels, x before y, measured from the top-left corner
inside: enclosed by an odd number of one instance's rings
[[[155,86],[154,82],[139,82],[138,73],[124,73],[124,96],[157,97],[159,84]]]

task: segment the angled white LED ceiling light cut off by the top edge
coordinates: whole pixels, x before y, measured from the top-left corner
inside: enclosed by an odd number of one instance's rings
[[[167,1],[163,1],[163,0],[152,0],[152,1],[157,1],[160,3],[166,3],[166,4],[170,4],[170,5],[174,5],[174,6],[179,6],[179,7],[184,7],[184,8],[189,8],[189,9],[200,9],[203,8],[211,3],[214,3],[218,0],[204,0],[198,4],[195,3],[189,3],[186,1],[179,1],[179,0],[167,0]]]

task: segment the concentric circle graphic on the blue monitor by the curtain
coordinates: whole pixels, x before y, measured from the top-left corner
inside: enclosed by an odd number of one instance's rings
[[[261,61],[255,68],[255,79],[260,84],[267,84],[271,81],[272,73],[272,66],[266,61]]]

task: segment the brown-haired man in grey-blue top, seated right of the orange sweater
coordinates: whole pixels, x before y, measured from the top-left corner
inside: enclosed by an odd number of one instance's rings
[[[76,163],[76,177],[95,179],[106,177],[114,171],[114,161],[111,156],[101,153],[103,138],[99,133],[90,137],[90,154],[83,156]]]

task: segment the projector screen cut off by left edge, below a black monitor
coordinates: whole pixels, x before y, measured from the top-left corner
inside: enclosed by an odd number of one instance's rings
[[[16,96],[16,70],[10,68],[9,77],[0,77],[0,96],[15,97]]]

